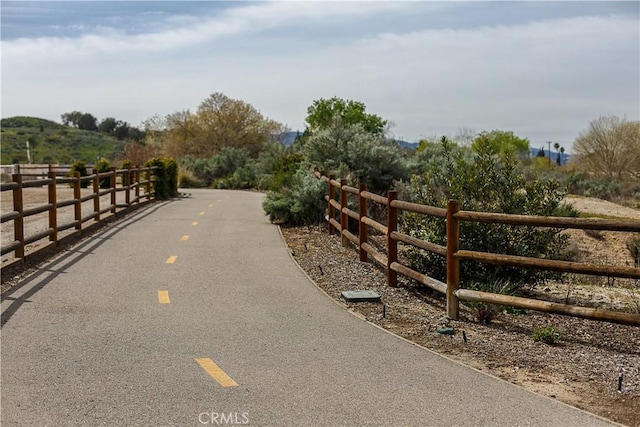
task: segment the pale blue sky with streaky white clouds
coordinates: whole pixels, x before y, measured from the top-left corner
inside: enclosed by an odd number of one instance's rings
[[[640,118],[640,2],[2,1],[2,117],[144,119],[214,92],[304,129],[362,101],[396,138],[571,143]]]

